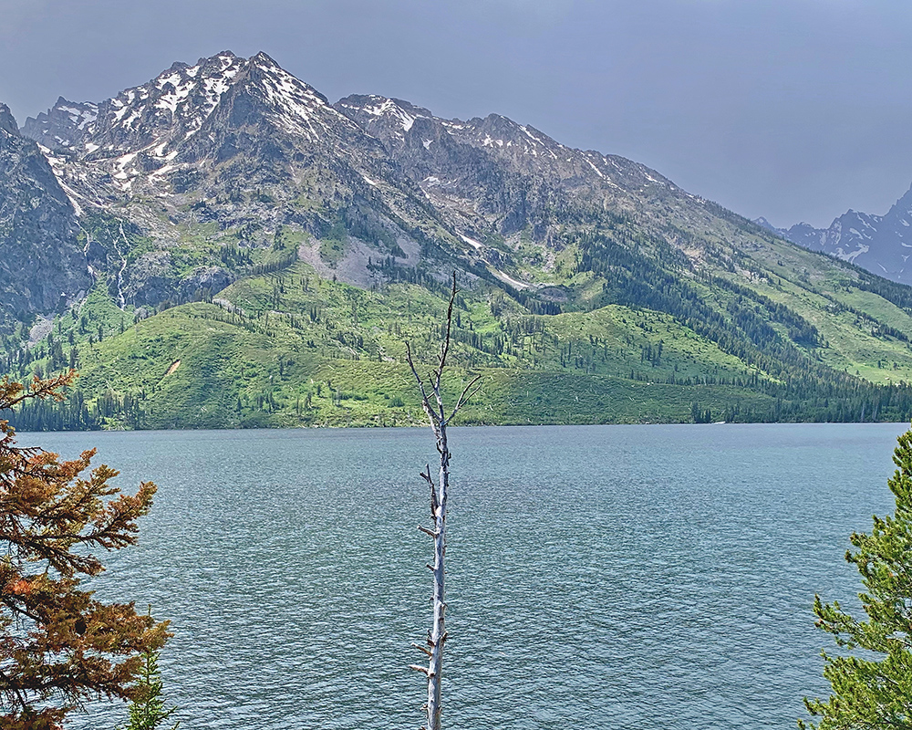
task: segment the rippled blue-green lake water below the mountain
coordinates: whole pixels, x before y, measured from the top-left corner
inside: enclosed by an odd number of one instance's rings
[[[814,592],[892,501],[903,426],[456,429],[444,725],[791,728]],[[160,485],[109,600],[171,618],[181,728],[417,728],[426,430],[22,434]],[[849,599],[849,600],[846,600]],[[92,706],[73,730],[111,728]]]

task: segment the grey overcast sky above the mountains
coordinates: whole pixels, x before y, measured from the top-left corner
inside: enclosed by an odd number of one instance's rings
[[[223,49],[333,101],[496,111],[777,225],[912,182],[908,0],[0,0],[0,101],[21,124]]]

